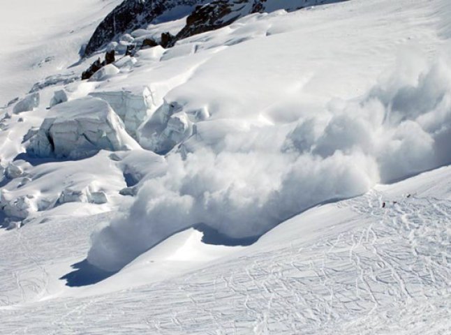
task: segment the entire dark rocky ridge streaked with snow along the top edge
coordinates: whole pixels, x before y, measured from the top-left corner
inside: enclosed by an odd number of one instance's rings
[[[159,20],[175,20],[188,15],[186,26],[177,36],[161,36],[161,46],[172,47],[177,40],[225,27],[251,13],[297,10],[339,1],[346,0],[126,0],[99,24],[84,55],[93,54],[126,31],[140,29]],[[147,46],[145,43],[142,45]]]

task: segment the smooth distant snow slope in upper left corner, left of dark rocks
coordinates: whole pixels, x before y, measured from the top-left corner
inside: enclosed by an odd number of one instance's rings
[[[70,82],[68,68],[78,59],[96,24],[121,0],[2,0],[0,106],[23,96],[37,82]]]

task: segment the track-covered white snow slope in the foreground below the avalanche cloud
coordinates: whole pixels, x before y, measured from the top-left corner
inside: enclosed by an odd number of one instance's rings
[[[378,186],[306,211],[247,248],[205,246],[188,230],[82,288],[57,278],[110,216],[3,232],[0,332],[446,334],[450,182],[443,168]]]

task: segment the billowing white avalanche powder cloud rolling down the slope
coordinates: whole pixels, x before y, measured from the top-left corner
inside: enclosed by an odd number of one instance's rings
[[[450,129],[450,62],[403,59],[362,98],[171,154],[165,176],[147,181],[131,209],[94,234],[88,260],[120,269],[196,223],[230,237],[263,234],[321,202],[450,163]]]

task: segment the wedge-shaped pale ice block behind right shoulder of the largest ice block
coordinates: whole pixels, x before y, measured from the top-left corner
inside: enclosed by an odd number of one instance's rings
[[[154,107],[149,88],[129,88],[122,91],[93,92],[91,96],[107,101],[124,121],[128,133],[136,138],[138,127],[147,119]]]

